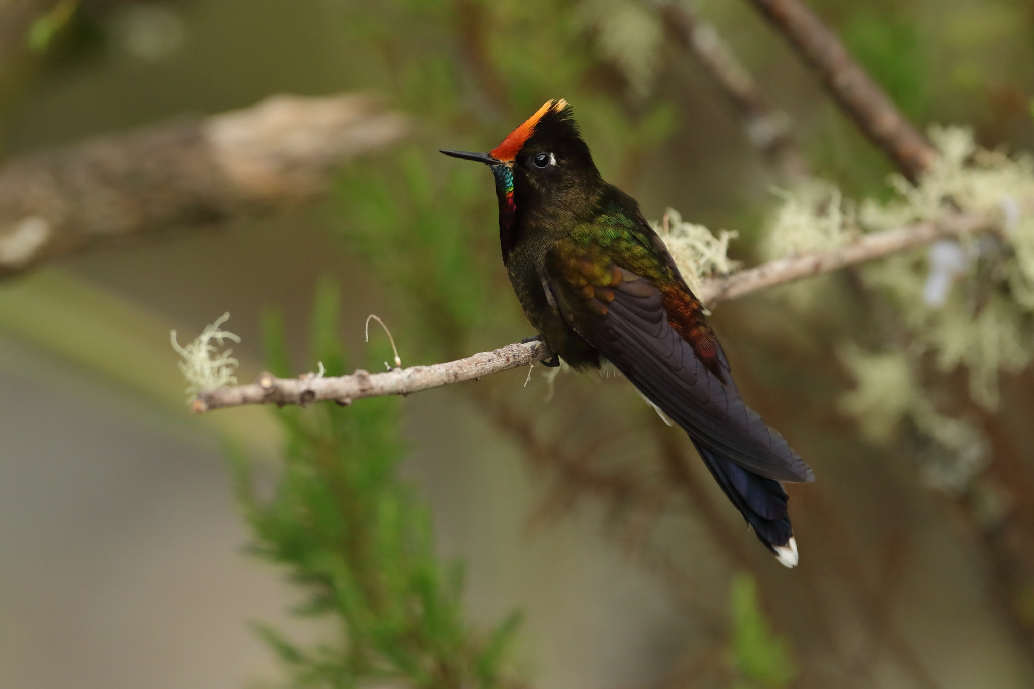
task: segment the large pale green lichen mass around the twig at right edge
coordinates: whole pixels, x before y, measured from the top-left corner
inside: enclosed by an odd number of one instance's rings
[[[938,156],[918,184],[891,176],[889,200],[857,205],[825,183],[780,192],[783,203],[763,247],[779,258],[835,249],[864,232],[951,222],[960,214],[1000,219],[996,232],[941,240],[925,251],[862,267],[862,281],[893,307],[907,342],[898,351],[850,347],[841,356],[857,382],[841,409],[873,440],[888,440],[903,422],[910,426],[929,440],[927,481],[957,492],[986,463],[987,440],[971,419],[937,410],[920,383],[921,363],[944,372],[966,367],[971,398],[992,409],[999,374],[1018,371],[1034,357],[1034,162],[980,149],[968,128],[929,133]],[[800,287],[817,288],[814,282]]]

